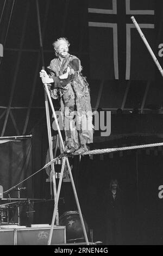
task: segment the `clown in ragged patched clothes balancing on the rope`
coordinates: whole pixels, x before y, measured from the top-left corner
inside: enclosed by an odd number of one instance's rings
[[[93,142],[92,109],[89,84],[82,75],[80,60],[71,55],[69,42],[59,38],[53,42],[55,56],[45,70],[40,71],[42,83],[50,86],[51,96],[60,99],[66,137],[66,152],[82,154],[86,144]]]

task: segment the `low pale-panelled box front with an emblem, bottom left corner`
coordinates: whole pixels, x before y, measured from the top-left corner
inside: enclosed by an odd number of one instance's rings
[[[0,245],[47,245],[51,227],[0,229]],[[54,226],[51,245],[66,243],[66,227]]]

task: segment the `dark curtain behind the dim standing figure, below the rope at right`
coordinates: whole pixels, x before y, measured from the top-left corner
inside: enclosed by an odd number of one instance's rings
[[[157,152],[157,153],[156,153]],[[162,244],[162,152],[128,150],[123,154],[82,157],[79,200],[94,241],[105,241],[105,191],[112,178],[123,194],[122,237],[127,245]]]

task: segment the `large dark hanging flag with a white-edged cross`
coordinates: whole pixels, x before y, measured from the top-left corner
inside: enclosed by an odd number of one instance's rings
[[[154,0],[89,0],[88,13],[92,79],[155,77],[155,64],[130,19],[134,15],[155,53]]]

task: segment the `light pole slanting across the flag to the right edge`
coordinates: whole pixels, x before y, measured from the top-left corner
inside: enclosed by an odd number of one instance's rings
[[[147,42],[147,40],[146,40],[146,38],[145,38],[145,35],[142,33],[142,31],[141,31],[139,25],[137,24],[137,22],[136,22],[134,16],[131,16],[131,20],[133,21],[133,23],[134,23],[134,25],[135,25],[137,31],[139,32],[139,34],[140,34],[140,36],[141,36],[141,39],[142,39],[143,42],[145,43],[145,45],[146,45],[146,47],[147,47],[149,53],[151,54],[151,56],[152,56],[152,58],[153,58],[153,60],[154,60],[154,62],[155,62],[155,64],[156,64],[156,66],[158,67],[158,69],[159,69],[159,71],[160,71],[160,73],[161,73],[161,76],[163,76],[163,70],[162,70],[162,68],[161,68],[161,65],[160,65],[160,63],[158,62],[158,59],[155,57],[155,55],[154,55],[154,53],[153,53],[153,51],[152,51],[151,46],[148,44],[148,42]]]

